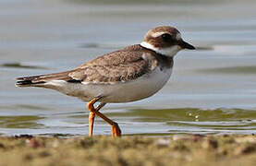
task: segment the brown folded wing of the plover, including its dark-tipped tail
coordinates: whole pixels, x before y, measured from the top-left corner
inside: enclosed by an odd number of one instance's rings
[[[114,83],[141,77],[157,65],[152,53],[147,53],[139,45],[108,53],[75,70],[35,77],[19,77],[17,85],[44,83],[50,80],[67,82]]]

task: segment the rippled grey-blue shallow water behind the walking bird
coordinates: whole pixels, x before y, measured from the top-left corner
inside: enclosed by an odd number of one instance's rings
[[[85,103],[49,89],[18,89],[15,77],[67,70],[140,43],[172,25],[198,47],[182,51],[165,88],[103,113],[125,135],[251,134],[256,120],[255,1],[103,5],[0,0],[0,133],[87,135]],[[239,12],[238,12],[239,11]],[[96,119],[95,134],[110,134]]]

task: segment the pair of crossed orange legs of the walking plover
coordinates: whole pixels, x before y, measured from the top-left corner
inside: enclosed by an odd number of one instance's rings
[[[118,126],[117,123],[113,122],[111,119],[107,118],[103,113],[100,113],[99,110],[105,105],[104,102],[100,103],[100,105],[95,109],[93,104],[96,101],[99,101],[101,98],[94,98],[87,104],[87,108],[90,112],[95,113],[97,116],[100,116],[102,119],[104,119],[105,122],[107,122],[109,125],[111,125],[111,130],[112,130],[112,136],[121,136],[121,130]],[[95,115],[94,114],[94,115]],[[90,114],[90,117],[93,117],[93,115]],[[93,129],[93,122],[94,122],[94,117],[91,118],[90,121],[90,133],[89,135],[92,136],[92,129]]]

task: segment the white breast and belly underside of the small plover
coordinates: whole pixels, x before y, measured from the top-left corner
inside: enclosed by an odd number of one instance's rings
[[[67,83],[65,89],[57,89],[69,96],[78,97],[82,101],[103,96],[102,102],[118,103],[139,101],[152,96],[162,89],[171,76],[172,70],[161,70],[156,68],[152,73],[145,74],[137,79],[116,83],[116,84],[70,84]]]

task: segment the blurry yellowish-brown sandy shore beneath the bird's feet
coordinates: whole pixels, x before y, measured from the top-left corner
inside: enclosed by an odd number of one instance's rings
[[[256,136],[2,136],[0,165],[255,165]]]

